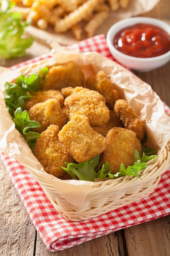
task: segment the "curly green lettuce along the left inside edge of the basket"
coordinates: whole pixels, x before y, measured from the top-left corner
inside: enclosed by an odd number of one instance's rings
[[[48,72],[48,68],[44,67],[38,74],[31,74],[30,76],[21,75],[16,80],[16,83],[5,83],[5,103],[9,115],[15,122],[15,128],[23,135],[26,143],[31,150],[35,147],[36,139],[40,137],[38,132],[30,131],[30,128],[40,127],[36,121],[29,118],[27,110],[22,112],[24,100],[32,97],[31,94],[41,90],[41,84]]]

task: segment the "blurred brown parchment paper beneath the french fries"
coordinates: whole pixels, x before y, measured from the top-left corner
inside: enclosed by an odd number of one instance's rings
[[[128,9],[119,9],[117,11],[110,11],[108,18],[104,23],[95,31],[94,36],[99,34],[106,35],[108,29],[117,21],[132,16],[138,16],[152,10],[160,0],[130,0]],[[60,45],[71,45],[77,43],[77,40],[68,31],[66,33],[57,34],[53,27],[48,27],[46,31],[38,29],[37,27],[29,26],[26,27],[26,31],[31,34],[35,40],[41,43],[49,43],[49,41],[57,40]],[[86,39],[85,35],[82,36],[81,40]]]

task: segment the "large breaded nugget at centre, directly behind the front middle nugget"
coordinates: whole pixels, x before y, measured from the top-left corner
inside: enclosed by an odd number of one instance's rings
[[[99,92],[82,88],[68,96],[64,105],[69,108],[70,119],[75,114],[84,115],[93,126],[106,124],[109,120],[109,109]]]

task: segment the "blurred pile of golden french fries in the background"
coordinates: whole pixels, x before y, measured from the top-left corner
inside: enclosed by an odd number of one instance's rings
[[[52,25],[57,33],[71,31],[81,40],[95,34],[97,28],[108,18],[109,11],[126,9],[130,0],[11,0],[15,10],[22,13],[23,20],[32,20],[40,29]],[[82,25],[83,24],[83,25]]]

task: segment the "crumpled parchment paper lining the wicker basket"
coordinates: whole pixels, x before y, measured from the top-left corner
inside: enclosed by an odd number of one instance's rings
[[[93,182],[63,181],[44,171],[22,135],[15,130],[15,125],[7,113],[4,103],[4,83],[13,81],[20,73],[33,74],[38,72],[40,67],[51,66],[55,62],[62,64],[66,61],[76,61],[78,65],[83,67],[85,77],[88,77],[92,70],[95,73],[103,70],[110,77],[111,82],[117,84],[115,88],[119,92],[119,98],[128,101],[137,115],[140,115],[149,138],[148,146],[157,148],[159,154],[170,140],[170,117],[165,113],[162,101],[150,85],[141,81],[121,65],[97,52],[79,53],[78,49],[71,50],[61,47],[55,41],[51,43],[51,47],[53,48],[53,58],[41,61],[41,64],[34,64],[33,68],[28,65],[24,69],[21,68],[14,72],[5,67],[0,67],[0,150],[8,156],[14,157],[39,177],[49,180],[62,198],[75,206],[81,207]]]

